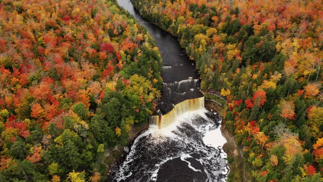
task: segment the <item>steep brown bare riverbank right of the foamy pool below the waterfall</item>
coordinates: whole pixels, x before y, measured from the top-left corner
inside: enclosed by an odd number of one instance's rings
[[[228,181],[247,181],[245,177],[244,157],[241,149],[238,148],[234,135],[226,125],[224,117],[224,105],[214,99],[205,98],[205,107],[217,112],[222,117],[221,132],[227,143],[223,146],[223,150],[228,155],[228,163],[230,172]],[[242,170],[241,170],[242,169]]]

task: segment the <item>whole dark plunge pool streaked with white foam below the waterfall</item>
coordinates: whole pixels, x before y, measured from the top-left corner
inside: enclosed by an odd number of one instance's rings
[[[166,128],[150,126],[126,150],[110,180],[226,181],[229,167],[221,121],[218,114],[200,109],[178,116]]]

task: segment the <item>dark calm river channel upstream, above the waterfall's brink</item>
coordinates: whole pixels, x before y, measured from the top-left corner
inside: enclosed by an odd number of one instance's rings
[[[157,106],[160,112],[166,114],[173,109],[174,105],[184,100],[202,97],[194,62],[188,59],[177,38],[158,26],[146,22],[134,9],[130,0],[118,0],[118,4],[146,27],[163,58],[164,67],[161,76],[164,80],[164,90],[161,93],[161,102]]]

